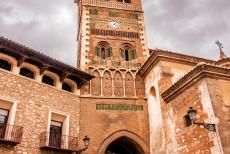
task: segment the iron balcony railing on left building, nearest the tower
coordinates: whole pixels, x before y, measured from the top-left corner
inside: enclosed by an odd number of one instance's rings
[[[78,138],[59,133],[44,132],[40,135],[40,148],[56,151],[76,152]]]

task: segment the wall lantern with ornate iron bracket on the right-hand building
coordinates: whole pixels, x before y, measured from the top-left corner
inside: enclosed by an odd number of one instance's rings
[[[189,107],[187,114],[184,116],[184,118],[186,120],[186,126],[196,124],[199,126],[203,126],[204,128],[208,129],[209,131],[216,131],[216,125],[215,124],[196,122],[196,120],[197,120],[196,114],[197,114],[197,110],[193,109],[193,107]]]

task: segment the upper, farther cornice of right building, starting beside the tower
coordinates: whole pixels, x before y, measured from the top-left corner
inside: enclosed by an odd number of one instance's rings
[[[215,63],[215,61],[213,60],[174,53],[170,51],[164,51],[164,50],[159,50],[159,49],[149,49],[149,50],[150,52],[152,52],[152,54],[139,70],[139,73],[143,77],[146,76],[160,60],[184,63],[184,64],[192,65],[192,66],[195,66],[200,62],[206,62],[210,64]]]

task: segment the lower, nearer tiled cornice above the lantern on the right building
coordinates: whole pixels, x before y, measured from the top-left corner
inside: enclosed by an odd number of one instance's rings
[[[220,78],[230,80],[230,69],[210,64],[199,64],[161,94],[166,103],[186,90],[191,84],[202,78]]]

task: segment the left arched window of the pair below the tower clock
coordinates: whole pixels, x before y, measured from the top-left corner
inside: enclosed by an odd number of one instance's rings
[[[95,54],[101,59],[107,59],[112,56],[112,48],[110,47],[109,43],[101,41],[95,48]]]

